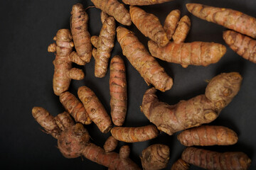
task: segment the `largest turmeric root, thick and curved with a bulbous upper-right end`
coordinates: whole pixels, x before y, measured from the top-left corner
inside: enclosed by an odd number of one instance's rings
[[[156,89],[151,88],[143,96],[142,112],[159,130],[172,135],[215,120],[238,94],[241,83],[242,77],[238,72],[219,74],[210,80],[206,94],[180,101],[174,106],[159,101]]]

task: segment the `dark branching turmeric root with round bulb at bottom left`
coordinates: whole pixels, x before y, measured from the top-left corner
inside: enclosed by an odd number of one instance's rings
[[[64,157],[84,156],[92,162],[107,166],[109,169],[139,169],[139,166],[129,159],[129,147],[123,146],[120,149],[120,154],[106,152],[90,142],[90,135],[82,124],[66,121],[72,120],[66,117],[70,116],[69,114],[61,115],[58,118],[58,120],[63,121],[59,123],[61,128],[55,123],[56,117],[54,118],[44,108],[35,107],[32,109],[32,114],[46,132],[58,140],[58,149]]]

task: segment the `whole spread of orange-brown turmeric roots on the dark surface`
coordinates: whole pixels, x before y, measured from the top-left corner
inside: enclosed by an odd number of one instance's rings
[[[59,96],[65,111],[54,117],[45,108],[32,109],[33,118],[43,127],[44,132],[58,140],[58,149],[63,156],[83,156],[108,169],[164,169],[171,152],[167,145],[154,144],[145,148],[140,155],[141,165],[129,159],[128,145],[123,145],[119,153],[114,152],[114,149],[118,141],[143,142],[158,137],[160,132],[168,135],[178,132],[178,141],[186,149],[172,165],[172,170],[189,169],[191,164],[203,169],[248,169],[251,159],[243,152],[214,152],[194,147],[235,145],[238,142],[238,135],[233,130],[224,126],[205,125],[218,118],[223,108],[240,91],[242,76],[238,72],[216,75],[208,82],[205,94],[172,106],[159,101],[156,96],[158,90],[168,91],[174,84],[156,58],[181,64],[184,68],[191,64],[206,67],[217,63],[225,55],[225,45],[185,42],[191,21],[188,16],[181,17],[178,9],[166,16],[162,26],[153,13],[138,7],[170,0],[123,0],[124,4],[117,0],[91,1],[94,8],[102,11],[100,34],[90,36],[89,17],[86,13],[90,9],[75,4],[71,10],[70,30],[58,30],[53,38],[55,42],[48,46],[48,52],[55,53],[53,91]],[[255,18],[229,8],[202,4],[186,4],[186,8],[198,18],[230,29],[223,33],[225,42],[238,55],[256,63]],[[149,51],[139,42],[135,33],[129,30],[132,24],[149,39]],[[140,108],[149,120],[149,125],[122,126],[127,114],[127,78],[123,57],[111,57],[116,35],[122,54],[137,69],[146,84],[151,85],[144,92]],[[111,113],[107,113],[101,99],[89,87],[80,86],[78,98],[69,92],[72,79],[81,80],[85,77],[82,69],[73,67],[73,63],[85,65],[92,57],[95,60],[95,77],[105,77],[110,70]],[[100,132],[111,133],[103,147],[90,141],[86,125],[91,123],[95,123]]]

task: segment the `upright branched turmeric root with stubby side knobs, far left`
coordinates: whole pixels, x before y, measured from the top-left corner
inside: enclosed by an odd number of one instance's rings
[[[85,77],[82,69],[72,68],[72,62],[83,64],[78,56],[70,55],[73,50],[73,42],[70,30],[60,29],[53,38],[56,44],[48,46],[48,52],[56,52],[53,74],[53,91],[57,96],[60,96],[64,91],[67,91],[70,86],[71,79],[80,80]]]

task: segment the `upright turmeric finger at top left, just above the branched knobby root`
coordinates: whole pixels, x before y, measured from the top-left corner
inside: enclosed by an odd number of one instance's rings
[[[90,33],[87,30],[88,16],[82,4],[75,4],[71,11],[71,33],[73,36],[75,50],[73,55],[77,55],[84,62],[90,62],[92,57],[92,44]]]

